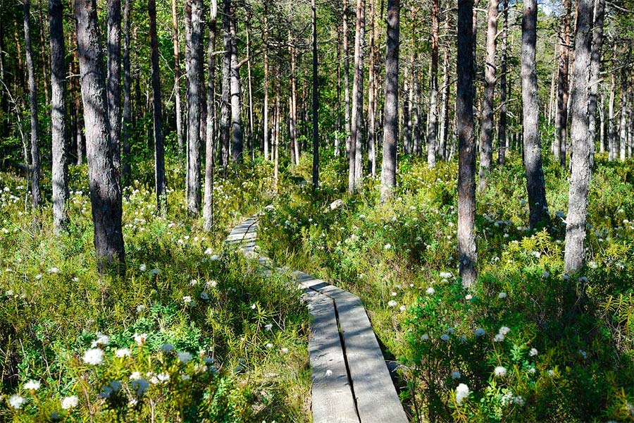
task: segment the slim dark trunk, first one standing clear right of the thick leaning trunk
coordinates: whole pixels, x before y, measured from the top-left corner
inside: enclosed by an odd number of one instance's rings
[[[161,73],[159,42],[156,39],[156,0],[147,0],[149,39],[152,63],[152,121],[154,122],[154,189],[156,207],[167,212],[167,183],[165,180],[165,145],[163,137],[163,108],[161,104]]]

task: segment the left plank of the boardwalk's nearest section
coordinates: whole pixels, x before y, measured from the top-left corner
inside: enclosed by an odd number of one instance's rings
[[[313,423],[359,423],[334,304],[315,291],[305,294],[304,298],[311,305],[313,317],[309,342]]]

